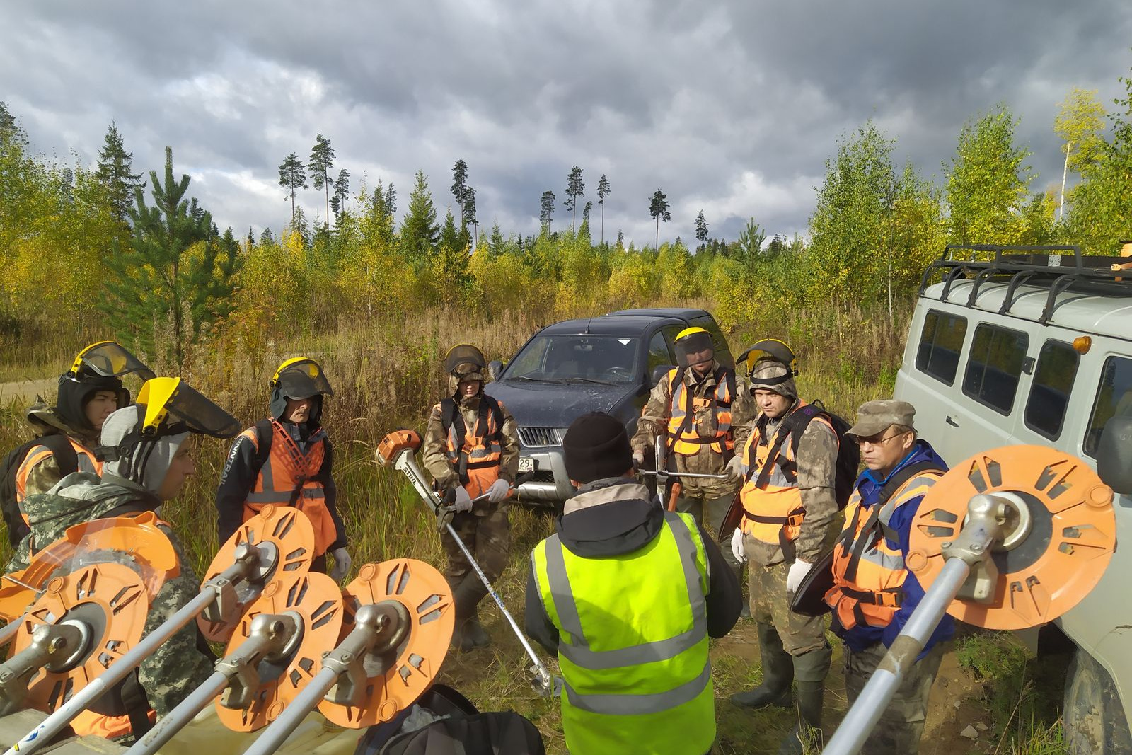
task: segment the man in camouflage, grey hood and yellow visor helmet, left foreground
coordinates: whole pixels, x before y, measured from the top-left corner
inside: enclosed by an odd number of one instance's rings
[[[69,526],[156,512],[168,505],[196,471],[190,435],[231,438],[239,429],[235,418],[180,378],[148,380],[138,393],[137,405],[113,412],[102,426],[101,479],[92,472],[68,474],[50,491],[24,500],[31,535],[20,542],[8,570],[26,568],[32,555],[62,538]],[[158,522],[157,526],[173,546],[179,574],[166,577],[152,595],[145,635],[200,592],[180,539],[168,523]],[[71,727],[80,735],[118,738],[132,729],[135,737],[140,736],[148,727],[148,707],[158,717],[166,715],[208,679],[214,660],[196,624],[189,624],[138,666],[136,683],[144,695],[121,694],[126,715],[85,711]],[[126,685],[136,683],[129,677]]]

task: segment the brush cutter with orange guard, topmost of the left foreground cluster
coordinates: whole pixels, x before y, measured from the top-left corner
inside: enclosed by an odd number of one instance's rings
[[[249,586],[250,593],[258,597],[277,569],[306,572],[314,557],[312,544],[314,530],[302,512],[293,508],[265,506],[259,514],[245,522],[225,543],[225,548],[221,550],[209,567],[209,573],[215,574],[215,576],[205,581],[200,586],[200,593],[195,599],[144,638],[136,643],[120,645],[129,647],[125,654],[91,653],[100,660],[109,659],[110,662],[105,670],[102,670],[97,677],[89,678],[82,689],[57,707],[40,726],[12,745],[5,755],[16,755],[17,753],[26,755],[46,745],[76,715],[125,679],[145,658],[198,615],[204,614],[208,618],[209,625],[225,620],[234,621],[242,614],[246,602],[250,602],[243,600],[248,594],[246,591]],[[114,565],[102,564],[96,565],[95,568],[109,566]],[[138,578],[132,569],[123,568]],[[144,608],[148,601],[139,602],[143,603]],[[112,612],[109,603],[103,608],[103,612]]]

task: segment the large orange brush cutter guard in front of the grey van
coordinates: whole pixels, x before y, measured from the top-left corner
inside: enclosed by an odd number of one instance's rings
[[[912,521],[908,568],[926,590],[943,568],[976,494],[1013,494],[1006,537],[990,554],[998,580],[989,603],[954,600],[947,612],[988,629],[1050,621],[1100,580],[1116,547],[1113,490],[1081,460],[1047,446],[977,454],[943,475]]]

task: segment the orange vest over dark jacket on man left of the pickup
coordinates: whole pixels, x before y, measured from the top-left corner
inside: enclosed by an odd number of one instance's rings
[[[243,501],[243,521],[250,520],[267,504],[294,506],[307,514],[315,527],[315,556],[321,556],[338,537],[334,517],[326,507],[323,482],[316,479],[326,458],[326,431],[318,428],[312,432],[303,452],[277,420],[271,422],[272,452],[259,467],[256,484]],[[240,435],[259,449],[255,427]]]

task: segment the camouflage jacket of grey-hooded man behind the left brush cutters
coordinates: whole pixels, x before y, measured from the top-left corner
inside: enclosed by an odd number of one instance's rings
[[[9,572],[27,567],[28,548],[33,538],[37,547],[46,547],[61,538],[71,525],[130,512],[154,511],[161,501],[129,480],[108,475],[100,481],[94,474],[76,472],[68,474],[49,492],[31,496],[24,503],[31,518],[32,534],[19,543],[8,565]],[[180,574],[166,580],[153,597],[146,617],[145,635],[200,592],[200,581],[185,555],[180,539],[164,522],[158,526],[173,544]],[[212,675],[214,659],[211,653],[205,653],[207,645],[198,638],[196,623],[189,623],[138,667],[138,680],[157,715],[169,713]]]

